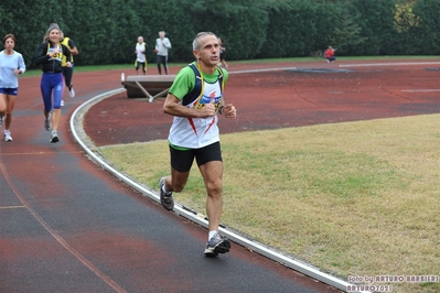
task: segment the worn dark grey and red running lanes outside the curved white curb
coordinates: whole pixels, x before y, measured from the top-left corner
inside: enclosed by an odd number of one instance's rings
[[[120,72],[103,76],[75,73],[58,143],[43,128],[40,77],[20,79],[13,141],[0,142],[0,292],[339,292],[238,245],[205,258],[205,228],[90,161],[68,119],[120,87]]]

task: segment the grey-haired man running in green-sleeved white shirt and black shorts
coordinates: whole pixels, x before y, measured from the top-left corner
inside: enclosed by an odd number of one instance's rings
[[[172,193],[183,191],[195,159],[207,192],[208,237],[204,254],[214,257],[230,249],[229,240],[218,232],[223,207],[218,113],[236,119],[236,110],[223,98],[228,73],[216,66],[217,36],[198,33],[193,41],[193,55],[196,61],[179,72],[163,104],[163,111],[174,118],[169,134],[171,175],[159,181],[160,199],[165,209],[174,208]]]

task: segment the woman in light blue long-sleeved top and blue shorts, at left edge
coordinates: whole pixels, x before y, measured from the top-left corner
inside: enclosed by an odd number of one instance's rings
[[[0,130],[4,123],[4,141],[12,141],[10,127],[15,97],[19,91],[19,75],[26,70],[23,56],[15,52],[15,36],[3,37],[4,50],[0,52]]]

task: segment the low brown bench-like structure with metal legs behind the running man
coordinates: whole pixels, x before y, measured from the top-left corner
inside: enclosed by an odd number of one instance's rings
[[[165,97],[174,82],[175,75],[121,75],[121,83],[127,89],[128,98],[147,97],[150,102]]]

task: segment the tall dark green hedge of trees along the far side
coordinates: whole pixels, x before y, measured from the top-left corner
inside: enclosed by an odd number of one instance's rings
[[[131,63],[139,35],[154,61],[162,30],[170,62],[191,62],[201,31],[225,40],[229,61],[309,56],[329,45],[348,56],[438,55],[438,11],[440,0],[2,0],[0,31],[15,35],[29,67],[53,22],[76,43],[76,65]]]

